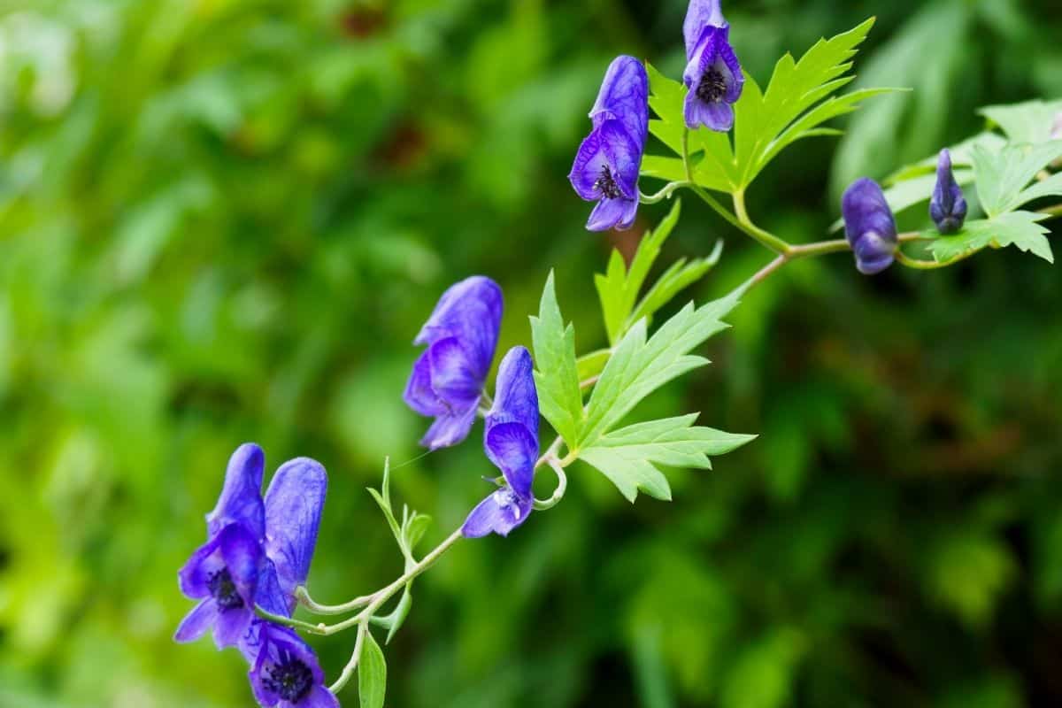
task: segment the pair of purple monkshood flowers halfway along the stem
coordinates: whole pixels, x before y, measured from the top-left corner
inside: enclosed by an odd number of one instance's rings
[[[640,66],[640,65],[639,65]],[[435,416],[422,445],[438,449],[467,437],[486,399],[483,391],[501,327],[496,282],[474,276],[450,287],[421,329],[415,344],[428,349],[413,365],[406,402]],[[502,536],[524,523],[534,502],[531,482],[538,457],[538,396],[531,352],[513,347],[498,366],[495,398],[485,412],[483,450],[501,470],[498,488],[469,514],[461,533]]]

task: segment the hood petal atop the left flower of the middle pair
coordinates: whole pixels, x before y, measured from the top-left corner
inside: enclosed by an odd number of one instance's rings
[[[468,351],[473,369],[482,372],[485,378],[498,345],[501,311],[498,283],[481,275],[465,278],[443,293],[413,343],[434,344],[457,338]]]

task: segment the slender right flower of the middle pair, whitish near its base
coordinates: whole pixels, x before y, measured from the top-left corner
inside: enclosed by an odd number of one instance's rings
[[[498,366],[494,405],[486,416],[483,449],[501,470],[504,484],[481,501],[465,519],[461,533],[479,538],[492,532],[508,536],[524,523],[534,498],[531,482],[538,459],[538,395],[531,353],[513,347]]]

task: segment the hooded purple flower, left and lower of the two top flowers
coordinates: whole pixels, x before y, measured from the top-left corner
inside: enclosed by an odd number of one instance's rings
[[[594,128],[579,145],[568,180],[579,196],[598,203],[587,229],[630,228],[649,134],[649,76],[641,62],[613,59],[589,117]]]

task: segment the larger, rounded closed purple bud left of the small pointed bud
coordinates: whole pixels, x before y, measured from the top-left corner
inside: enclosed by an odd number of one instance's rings
[[[868,177],[856,179],[841,198],[841,214],[859,272],[873,275],[889,267],[898,240],[896,222],[881,187]]]

